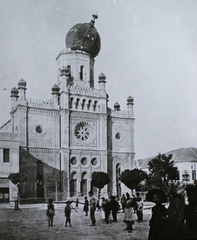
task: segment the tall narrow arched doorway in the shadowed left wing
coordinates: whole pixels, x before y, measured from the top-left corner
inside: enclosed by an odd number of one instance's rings
[[[36,194],[37,198],[44,198],[43,163],[40,160],[36,163]]]

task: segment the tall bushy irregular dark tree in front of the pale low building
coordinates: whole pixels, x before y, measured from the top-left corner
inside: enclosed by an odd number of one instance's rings
[[[172,154],[159,153],[149,163],[149,175],[147,185],[150,188],[163,188],[169,180],[178,180],[179,172],[172,160]]]

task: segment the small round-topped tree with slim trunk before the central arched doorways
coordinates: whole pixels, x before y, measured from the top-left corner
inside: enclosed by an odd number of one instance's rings
[[[105,172],[94,172],[92,174],[92,185],[99,189],[98,198],[100,199],[101,189],[110,183],[109,175]]]

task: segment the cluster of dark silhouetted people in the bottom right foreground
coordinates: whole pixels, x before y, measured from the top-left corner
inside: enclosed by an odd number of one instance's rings
[[[167,196],[160,189],[153,189],[146,195],[154,202],[149,225],[148,239],[197,239],[197,186],[186,187],[188,203],[182,194],[172,193],[166,208]]]

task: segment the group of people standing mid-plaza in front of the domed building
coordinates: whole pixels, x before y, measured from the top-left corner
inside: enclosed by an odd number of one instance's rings
[[[134,224],[134,214],[136,213],[138,216],[137,221],[141,222],[143,220],[143,201],[142,198],[139,196],[139,193],[136,194],[136,197],[130,197],[129,193],[126,193],[126,196],[123,194],[121,197],[121,205],[122,205],[122,212],[125,213],[124,222],[126,223],[126,230],[132,231],[133,224]],[[96,225],[96,218],[95,218],[95,211],[96,209],[101,211],[102,220],[109,223],[110,214],[112,216],[112,221],[117,222],[117,213],[120,211],[120,204],[118,199],[115,196],[110,196],[109,198],[102,197],[99,200],[93,197],[93,193],[89,192],[90,199],[88,200],[87,197],[84,197],[84,207],[83,211],[85,212],[85,216],[88,216],[88,212],[90,212],[90,226]],[[71,203],[73,201],[66,201],[66,206],[64,209],[66,221],[65,227],[71,225],[71,209],[78,208],[79,201],[76,200],[76,207],[72,207]],[[47,213],[48,217],[48,226],[53,226],[53,217],[55,215],[55,209],[53,205],[53,200],[49,199],[49,204],[47,206]]]

